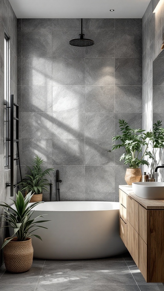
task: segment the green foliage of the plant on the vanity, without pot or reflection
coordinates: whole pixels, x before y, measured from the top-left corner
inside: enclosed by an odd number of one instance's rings
[[[131,128],[125,120],[119,120],[121,134],[114,136],[112,141],[120,143],[112,145],[112,151],[118,148],[124,148],[124,153],[120,157],[120,161],[124,160],[124,165],[130,168],[138,168],[140,165],[149,165],[149,162],[144,159],[148,156],[154,159],[152,153],[148,150],[151,141],[154,140],[153,132],[146,132],[142,129]],[[142,150],[144,148],[144,152]],[[110,152],[111,150],[109,150]]]

